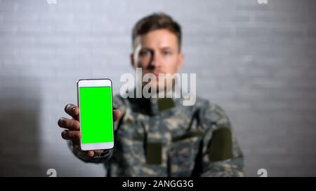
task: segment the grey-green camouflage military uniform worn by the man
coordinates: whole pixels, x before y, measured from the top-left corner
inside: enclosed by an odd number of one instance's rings
[[[122,99],[114,123],[114,149],[88,157],[71,146],[84,162],[103,163],[107,176],[244,176],[243,155],[222,108],[197,97],[194,106],[182,99]]]

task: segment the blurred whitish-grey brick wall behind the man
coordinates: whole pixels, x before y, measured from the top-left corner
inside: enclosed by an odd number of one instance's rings
[[[78,160],[58,118],[79,78],[118,93],[131,28],[154,12],[183,27],[182,73],[228,113],[247,176],[316,176],[316,1],[0,0],[0,176],[105,176]]]

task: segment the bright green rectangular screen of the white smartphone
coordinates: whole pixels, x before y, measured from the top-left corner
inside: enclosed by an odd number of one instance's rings
[[[81,143],[111,142],[111,87],[79,87]]]

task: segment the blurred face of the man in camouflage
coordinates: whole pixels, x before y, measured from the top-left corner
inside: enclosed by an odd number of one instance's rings
[[[135,50],[131,55],[133,67],[143,69],[143,76],[152,73],[157,78],[150,81],[157,84],[157,90],[162,90],[172,83],[171,78],[159,78],[159,73],[173,75],[180,69],[183,54],[178,47],[178,39],[168,29],[157,29],[136,38]],[[147,83],[143,83],[143,86]]]

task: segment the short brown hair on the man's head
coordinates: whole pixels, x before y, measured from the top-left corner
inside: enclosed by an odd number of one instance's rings
[[[176,34],[179,51],[181,50],[181,27],[178,22],[174,21],[171,16],[166,15],[165,13],[153,13],[152,15],[148,15],[138,20],[133,27],[133,45],[137,36],[147,34],[148,32],[157,29],[168,29],[173,34]]]

